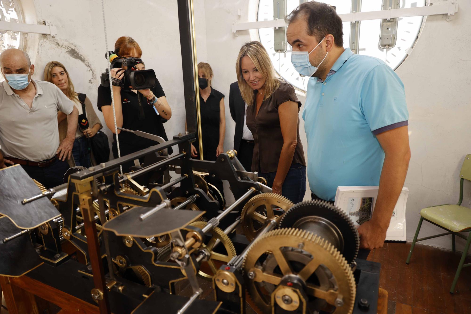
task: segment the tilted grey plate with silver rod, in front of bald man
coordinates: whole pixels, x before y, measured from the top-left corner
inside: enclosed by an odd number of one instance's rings
[[[41,194],[20,165],[0,169],[0,214],[11,219],[16,227],[32,229],[60,216],[47,197],[21,204],[24,198]]]

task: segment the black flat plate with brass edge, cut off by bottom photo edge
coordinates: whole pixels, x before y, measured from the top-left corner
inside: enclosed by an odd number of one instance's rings
[[[131,314],[168,313],[174,314],[187,303],[189,297],[163,292],[152,292]],[[222,302],[197,299],[185,313],[216,313]]]

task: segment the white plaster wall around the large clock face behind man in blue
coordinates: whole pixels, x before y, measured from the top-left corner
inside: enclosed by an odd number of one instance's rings
[[[257,4],[257,0],[205,0],[208,62],[215,72],[215,88],[226,96],[229,84],[236,80],[235,59],[240,46],[258,39],[256,31],[235,36],[232,23],[256,20]],[[422,208],[457,202],[459,171],[464,156],[471,154],[471,3],[460,1],[459,5],[453,21],[447,22],[442,16],[427,18],[413,52],[396,71],[406,88],[410,114],[412,157],[405,183],[410,190],[408,241],[414,237]],[[229,113],[226,120],[225,146],[231,147],[235,124]],[[301,124],[301,140],[306,146],[302,119]],[[471,207],[471,184],[465,184],[464,190],[463,205]],[[441,229],[423,223],[420,237],[438,233]],[[457,238],[458,250],[463,249],[463,242]],[[451,236],[421,243],[451,248]]]

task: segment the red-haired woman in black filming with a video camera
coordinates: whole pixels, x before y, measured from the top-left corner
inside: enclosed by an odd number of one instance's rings
[[[114,44],[114,53],[118,58],[141,58],[142,50],[138,43],[131,37],[122,36],[118,38]],[[144,63],[140,63],[133,67],[133,70],[144,70]],[[151,89],[132,90],[132,87],[122,86],[122,79],[125,70],[122,68],[111,69],[110,84],[113,85],[114,110],[116,114],[116,126],[129,129],[132,131],[143,131],[167,139],[164,122],[169,120],[172,110],[167,103],[165,93],[159,81],[155,79],[155,86]],[[113,107],[111,100],[111,92],[109,87],[100,85],[98,87],[98,109],[103,112],[106,126],[115,133]],[[118,148],[116,145],[116,136],[119,138],[121,156],[134,153],[138,150],[148,148],[157,144],[154,140],[149,140],[130,132],[121,132],[117,130],[117,134],[113,135],[113,156],[118,157]],[[171,153],[171,149],[169,149]],[[142,163],[144,160],[140,158]],[[123,171],[128,172],[129,167],[134,165],[131,163],[123,164]]]

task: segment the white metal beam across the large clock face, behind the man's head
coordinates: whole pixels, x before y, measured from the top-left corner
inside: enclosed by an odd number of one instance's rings
[[[365,20],[391,19],[395,17],[422,17],[428,15],[446,14],[448,17],[454,16],[458,12],[458,0],[449,0],[445,4],[437,4],[426,7],[417,8],[399,8],[371,12],[353,12],[339,14],[342,22],[357,22]],[[286,23],[282,19],[234,23],[232,25],[232,33],[237,31],[245,31],[249,29],[268,28],[268,27],[286,27]]]

